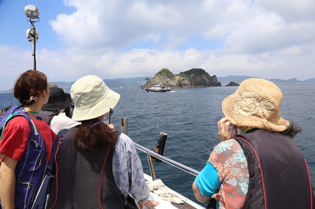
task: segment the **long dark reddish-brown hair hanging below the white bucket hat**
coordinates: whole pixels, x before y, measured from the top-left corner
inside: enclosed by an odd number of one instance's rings
[[[97,150],[99,147],[115,146],[118,139],[118,131],[112,131],[106,124],[100,123],[97,118],[81,121],[78,131],[74,136],[74,145],[79,150]]]

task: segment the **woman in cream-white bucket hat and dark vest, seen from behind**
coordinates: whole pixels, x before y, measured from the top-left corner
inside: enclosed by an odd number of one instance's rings
[[[155,206],[148,201],[148,186],[132,140],[104,123],[120,95],[101,78],[87,75],[72,85],[71,98],[72,119],[81,124],[60,139],[48,208],[124,208],[127,194],[141,207]]]

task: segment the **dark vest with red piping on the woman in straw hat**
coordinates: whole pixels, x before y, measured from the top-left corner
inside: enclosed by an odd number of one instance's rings
[[[262,129],[233,138],[248,162],[244,208],[314,208],[307,164],[291,138]]]

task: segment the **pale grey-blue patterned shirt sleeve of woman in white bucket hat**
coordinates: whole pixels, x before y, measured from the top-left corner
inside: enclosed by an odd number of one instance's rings
[[[144,170],[134,143],[129,136],[120,134],[113,153],[113,176],[120,192],[132,194],[136,201],[145,203],[150,195]]]

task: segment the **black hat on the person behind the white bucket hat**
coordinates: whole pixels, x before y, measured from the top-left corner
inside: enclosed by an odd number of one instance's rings
[[[50,87],[49,90],[50,94],[48,103],[43,105],[41,108],[42,110],[57,112],[71,105],[71,96],[70,94],[64,93],[64,89],[59,87]]]

